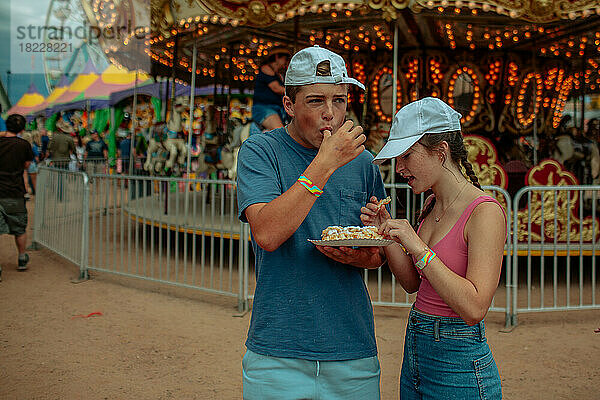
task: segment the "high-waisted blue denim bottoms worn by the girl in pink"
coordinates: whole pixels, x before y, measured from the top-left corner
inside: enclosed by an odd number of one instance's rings
[[[400,398],[501,399],[498,367],[483,321],[429,315],[414,307],[408,317]]]

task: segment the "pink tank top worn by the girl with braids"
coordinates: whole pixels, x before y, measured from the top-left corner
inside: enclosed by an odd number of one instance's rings
[[[431,246],[437,256],[442,262],[454,273],[462,276],[463,278],[467,275],[467,264],[468,264],[468,249],[467,243],[465,243],[464,230],[471,213],[479,204],[484,202],[494,202],[498,205],[498,201],[490,196],[479,196],[471,204],[467,206],[465,211],[456,221],[456,224],[450,229],[450,231],[444,236],[439,242]],[[423,222],[421,222],[421,225]],[[417,230],[417,234],[421,230],[421,225]],[[416,267],[415,267],[416,268]],[[419,270],[421,274],[421,271]],[[421,285],[417,292],[417,300],[415,301],[415,307],[419,310],[424,311],[428,314],[439,315],[442,317],[457,317],[456,314],[442,298],[437,294],[435,289],[431,286],[427,278],[421,274]]]

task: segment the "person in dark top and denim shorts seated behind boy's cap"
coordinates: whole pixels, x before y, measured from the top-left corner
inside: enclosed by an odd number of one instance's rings
[[[287,114],[283,108],[283,73],[290,53],[283,47],[272,48],[254,80],[252,119],[264,130],[283,127]]]

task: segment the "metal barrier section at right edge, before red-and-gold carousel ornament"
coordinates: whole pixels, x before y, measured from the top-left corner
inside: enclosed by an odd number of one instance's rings
[[[600,308],[599,191],[528,186],[515,194],[511,325],[518,313]]]

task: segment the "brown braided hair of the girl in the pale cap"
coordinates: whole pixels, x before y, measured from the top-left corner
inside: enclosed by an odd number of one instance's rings
[[[429,151],[435,151],[435,148],[442,142],[448,143],[448,147],[450,148],[450,158],[452,159],[452,162],[458,165],[459,169],[462,165],[465,169],[467,177],[471,180],[471,183],[477,186],[479,189],[481,189],[479,179],[477,179],[477,175],[475,175],[475,172],[473,171],[473,166],[467,159],[468,153],[467,149],[465,148],[462,133],[460,131],[429,133],[425,134],[419,140],[419,143]],[[446,160],[444,159],[444,163],[445,161]],[[442,166],[444,168],[447,168],[443,164]],[[421,224],[425,217],[429,215],[431,210],[433,210],[433,206],[435,206],[435,197],[417,212],[417,222],[415,223],[415,229],[419,226],[419,224]]]

